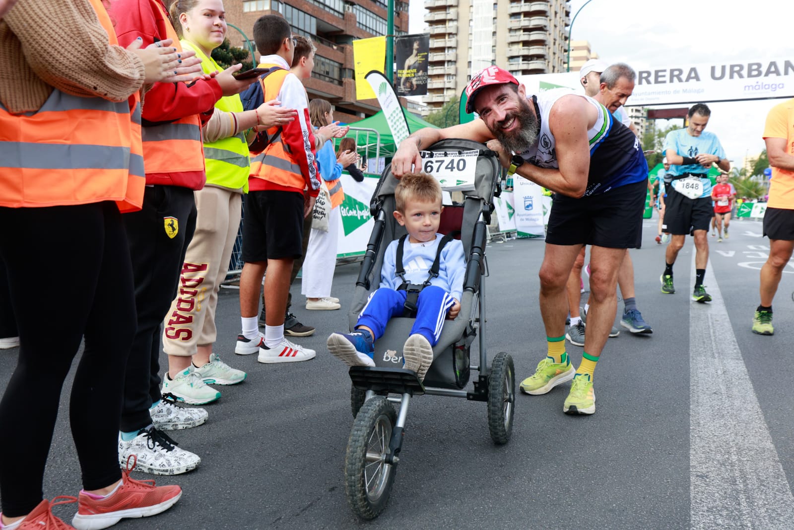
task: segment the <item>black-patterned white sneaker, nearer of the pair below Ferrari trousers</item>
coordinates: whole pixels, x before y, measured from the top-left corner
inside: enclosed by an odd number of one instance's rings
[[[179,449],[168,435],[155,427],[138,431],[138,435],[125,442],[118,436],[118,464],[126,466],[127,458],[135,455],[135,469],[155,475],[178,475],[195,470],[201,458],[190,451]]]

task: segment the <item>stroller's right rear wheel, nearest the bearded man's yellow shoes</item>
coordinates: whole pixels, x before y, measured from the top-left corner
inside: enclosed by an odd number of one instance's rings
[[[515,412],[515,369],[510,354],[499,352],[488,373],[488,429],[499,445],[510,441]]]

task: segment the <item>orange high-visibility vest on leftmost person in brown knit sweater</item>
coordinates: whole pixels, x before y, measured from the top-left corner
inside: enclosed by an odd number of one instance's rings
[[[101,0],[97,17],[118,44]],[[117,202],[140,210],[145,174],[137,93],[114,103],[52,90],[36,112],[10,114],[0,103],[0,206],[50,207]]]

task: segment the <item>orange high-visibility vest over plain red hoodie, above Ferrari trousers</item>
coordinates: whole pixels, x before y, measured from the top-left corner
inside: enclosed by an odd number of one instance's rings
[[[93,1],[93,0],[92,0]],[[160,10],[166,21],[166,37],[182,52],[179,36],[169,22],[168,13],[160,0],[149,0],[152,9]],[[147,173],[179,173],[204,171],[204,150],[201,137],[201,119],[191,114],[175,122],[143,128],[144,160]]]

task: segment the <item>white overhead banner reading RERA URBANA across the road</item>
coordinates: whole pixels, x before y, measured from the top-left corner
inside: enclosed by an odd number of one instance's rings
[[[580,93],[579,72],[521,75],[529,94],[557,87]],[[794,96],[794,60],[742,60],[733,63],[671,64],[637,70],[626,106],[777,99]]]

